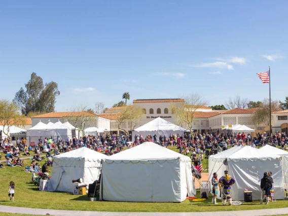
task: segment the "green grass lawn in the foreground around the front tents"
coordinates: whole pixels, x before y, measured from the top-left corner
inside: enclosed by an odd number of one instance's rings
[[[176,149],[172,149],[176,151]],[[30,162],[31,160],[29,159],[24,160],[25,165],[29,165]],[[41,164],[43,164],[43,162],[41,162]],[[182,203],[91,202],[87,195],[39,191],[39,189],[31,183],[32,173],[26,173],[21,171],[21,169],[22,167],[7,166],[5,169],[0,169],[0,205],[62,210],[189,212],[282,208],[287,207],[288,204],[288,201],[286,200],[277,200],[277,202],[272,202],[268,205],[259,205],[259,201],[243,203],[243,205],[240,206],[212,205],[211,196],[208,200],[203,202],[194,202],[191,200],[185,200]],[[14,181],[16,185],[14,202],[11,202],[8,197],[10,181]],[[199,191],[196,196],[200,197]]]

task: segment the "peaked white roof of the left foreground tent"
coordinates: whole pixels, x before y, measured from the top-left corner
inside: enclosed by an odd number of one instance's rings
[[[109,158],[108,156],[95,152],[86,147],[76,149],[61,155],[54,156],[55,159],[60,160],[85,160],[85,161],[101,161],[101,159]]]

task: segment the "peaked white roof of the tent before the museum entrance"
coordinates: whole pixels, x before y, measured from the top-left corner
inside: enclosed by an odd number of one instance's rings
[[[178,125],[175,125],[171,122],[168,122],[160,117],[134,130],[135,131],[156,131],[156,130],[186,131],[186,129],[179,127]]]

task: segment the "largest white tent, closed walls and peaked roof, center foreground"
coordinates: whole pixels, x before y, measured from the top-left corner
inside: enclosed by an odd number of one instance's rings
[[[145,142],[102,160],[100,199],[182,202],[196,194],[191,159]]]

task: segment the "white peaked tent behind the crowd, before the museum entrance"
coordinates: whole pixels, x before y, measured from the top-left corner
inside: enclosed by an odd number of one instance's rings
[[[132,139],[134,139],[136,134],[139,135],[141,134],[143,138],[145,138],[149,134],[151,134],[152,136],[156,134],[158,138],[160,134],[162,134],[162,136],[164,134],[169,136],[170,133],[171,134],[179,133],[183,136],[184,132],[186,131],[187,131],[186,129],[158,117],[157,119],[154,119],[151,122],[148,122],[147,124],[142,125],[141,127],[138,127],[135,130],[133,130]]]

